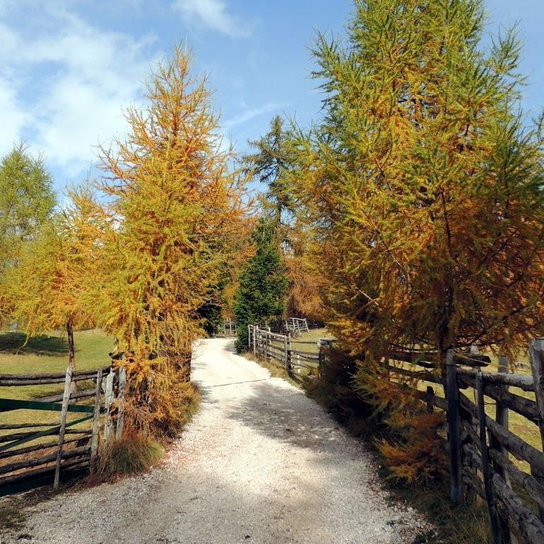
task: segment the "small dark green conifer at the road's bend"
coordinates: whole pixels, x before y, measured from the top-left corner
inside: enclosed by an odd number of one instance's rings
[[[239,351],[248,347],[248,324],[264,326],[282,316],[288,286],[273,224],[266,219],[259,220],[252,239],[255,254],[242,269],[234,302]]]

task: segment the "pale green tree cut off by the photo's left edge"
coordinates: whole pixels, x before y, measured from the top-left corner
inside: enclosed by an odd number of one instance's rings
[[[0,163],[0,281],[55,207],[52,179],[43,159],[16,145]],[[7,287],[7,286],[6,286]],[[0,291],[0,319],[8,313],[8,295]]]

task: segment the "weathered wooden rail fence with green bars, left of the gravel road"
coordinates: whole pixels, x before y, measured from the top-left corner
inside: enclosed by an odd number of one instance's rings
[[[91,382],[93,387],[77,391],[78,382]],[[123,433],[123,367],[74,372],[69,366],[62,374],[0,374],[0,387],[63,383],[60,395],[35,400],[0,398],[0,413],[7,414],[2,417],[7,423],[0,424],[0,496],[50,483],[58,487],[61,479],[89,470],[102,424],[106,440]],[[60,417],[42,422],[35,419],[36,412],[60,412]],[[79,416],[69,419],[69,414]],[[48,437],[56,439],[48,441]]]

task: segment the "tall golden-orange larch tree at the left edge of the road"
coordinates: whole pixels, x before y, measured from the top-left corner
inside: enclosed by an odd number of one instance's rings
[[[211,92],[191,75],[188,52],[176,47],[157,64],[146,98],[125,113],[126,139],[101,149],[111,228],[96,303],[125,352],[133,424],[175,433],[191,395],[192,344],[203,335],[199,310],[234,261],[245,207]]]

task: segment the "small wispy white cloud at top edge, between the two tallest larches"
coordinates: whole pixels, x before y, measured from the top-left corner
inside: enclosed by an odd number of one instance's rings
[[[175,0],[173,6],[186,23],[196,23],[231,38],[251,35],[251,25],[232,16],[225,0]]]

